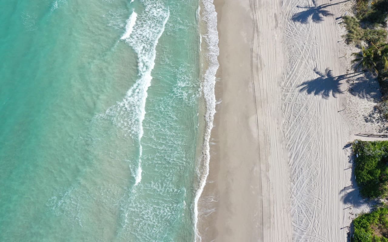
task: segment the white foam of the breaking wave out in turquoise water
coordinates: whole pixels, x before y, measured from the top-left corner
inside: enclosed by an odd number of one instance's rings
[[[139,143],[139,163],[135,185],[141,181],[143,120],[147,90],[151,85],[151,72],[155,65],[156,45],[165,30],[170,16],[169,10],[159,1],[143,0],[145,9],[137,15],[133,12],[127,20],[125,34],[121,37],[130,45],[138,57],[139,78],[127,91],[125,98],[110,107],[105,116],[111,117],[114,124],[126,131]],[[131,38],[128,38],[128,37]]]

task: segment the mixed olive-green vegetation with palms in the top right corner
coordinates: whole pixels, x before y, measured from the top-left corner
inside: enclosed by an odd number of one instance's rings
[[[377,108],[388,119],[388,0],[357,0],[354,14],[343,17],[346,43],[360,48],[352,54],[352,63],[355,70],[369,71],[379,81],[383,101]]]

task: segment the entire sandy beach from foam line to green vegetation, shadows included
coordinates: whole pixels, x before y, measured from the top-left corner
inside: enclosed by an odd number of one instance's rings
[[[202,241],[347,241],[369,209],[347,144],[378,131],[381,98],[376,81],[353,73],[358,50],[341,37],[353,1],[214,4],[220,68]]]

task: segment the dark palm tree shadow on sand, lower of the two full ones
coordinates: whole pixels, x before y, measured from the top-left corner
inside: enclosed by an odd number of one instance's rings
[[[313,80],[303,82],[298,86],[300,92],[307,92],[307,94],[314,93],[315,96],[321,95],[322,98],[329,98],[332,95],[334,98],[337,97],[337,94],[341,93],[340,85],[341,81],[350,77],[358,76],[362,73],[358,72],[353,76],[349,74],[333,76],[332,70],[326,68],[325,73],[321,73],[317,70],[317,67],[314,68],[314,72],[319,76]]]

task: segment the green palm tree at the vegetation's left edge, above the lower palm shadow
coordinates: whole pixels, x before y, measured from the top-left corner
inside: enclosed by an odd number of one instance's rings
[[[362,46],[361,53],[352,53],[352,56],[355,57],[354,60],[352,60],[352,63],[358,63],[354,70],[357,71],[360,67],[362,67],[362,70],[369,70],[370,72],[375,72],[378,74],[378,70],[376,68],[376,56],[378,56],[378,53],[374,48],[365,48]]]

